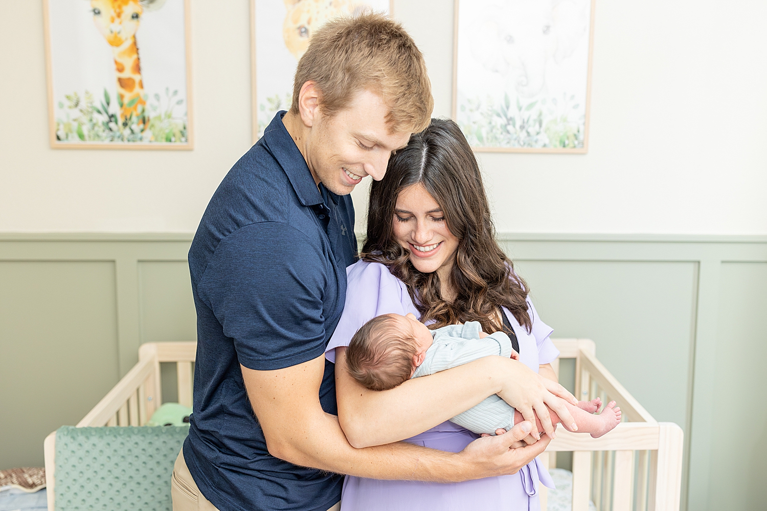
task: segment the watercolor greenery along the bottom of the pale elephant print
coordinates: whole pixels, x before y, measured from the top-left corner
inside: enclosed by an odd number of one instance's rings
[[[575,149],[583,147],[584,114],[570,97],[541,98],[522,104],[505,93],[467,99],[459,106],[458,124],[471,146]]]

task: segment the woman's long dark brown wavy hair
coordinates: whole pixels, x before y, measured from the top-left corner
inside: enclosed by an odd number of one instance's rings
[[[442,208],[447,227],[458,239],[450,278],[456,299],[446,302],[436,272],[423,274],[410,262],[410,250],[393,234],[394,208],[405,188],[422,184]],[[458,125],[433,119],[410,137],[389,160],[384,179],[370,185],[367,237],[360,257],[385,264],[407,285],[421,321],[430,328],[479,321],[485,332],[503,329],[499,306],[511,311],[528,332],[528,287],[495,241],[495,226],[476,158]]]

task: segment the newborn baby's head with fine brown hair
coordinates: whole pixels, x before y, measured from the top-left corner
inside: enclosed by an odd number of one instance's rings
[[[433,342],[413,314],[376,316],[351,338],[347,366],[351,377],[370,390],[388,390],[410,379]]]

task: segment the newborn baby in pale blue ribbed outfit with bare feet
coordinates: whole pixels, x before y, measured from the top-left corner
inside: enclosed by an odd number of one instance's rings
[[[375,391],[388,390],[410,378],[432,375],[488,355],[517,360],[519,357],[512,349],[509,336],[503,332],[482,332],[482,326],[476,321],[430,330],[413,314],[384,314],[370,319],[354,334],[346,352],[352,378]],[[601,437],[621,422],[621,408],[615,406],[615,401],[610,401],[598,415],[594,415],[601,406],[598,398],[580,401],[577,407],[566,404],[578,424],[578,433]],[[551,424],[557,424],[557,414],[551,409],[549,413]],[[498,429],[509,431],[522,420],[522,414],[498,395],[450,419],[477,434],[495,434]],[[572,431],[567,426],[565,429]]]

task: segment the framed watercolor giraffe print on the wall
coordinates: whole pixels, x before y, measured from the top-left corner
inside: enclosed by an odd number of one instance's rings
[[[189,0],[44,0],[54,149],[193,149]]]

